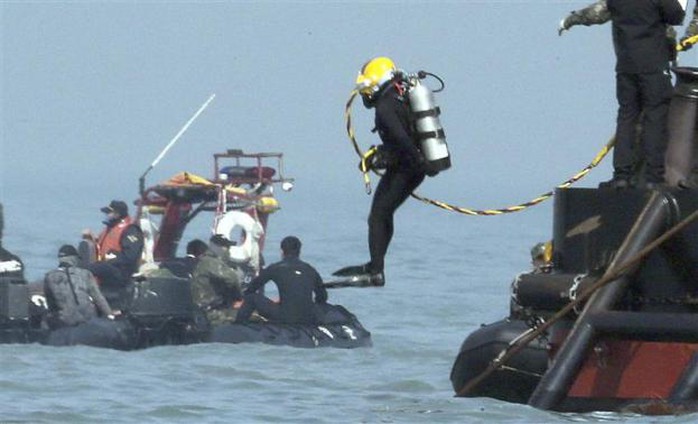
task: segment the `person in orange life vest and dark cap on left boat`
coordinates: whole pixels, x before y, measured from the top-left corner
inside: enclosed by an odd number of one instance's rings
[[[105,228],[94,240],[92,232],[83,232],[83,238],[95,243],[97,261],[88,269],[97,277],[109,304],[125,309],[133,290],[131,276],[138,272],[143,253],[143,232],[128,215],[128,206],[121,200],[112,200],[101,209],[106,214]]]

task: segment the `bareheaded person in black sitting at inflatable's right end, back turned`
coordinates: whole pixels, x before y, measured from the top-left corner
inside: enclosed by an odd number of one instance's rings
[[[300,252],[301,241],[297,237],[288,236],[281,241],[281,261],[264,268],[250,282],[236,322],[248,321],[255,310],[269,321],[288,324],[317,321],[315,303],[327,303],[327,290],[315,268],[300,259]],[[269,281],[278,288],[278,303],[261,293]]]

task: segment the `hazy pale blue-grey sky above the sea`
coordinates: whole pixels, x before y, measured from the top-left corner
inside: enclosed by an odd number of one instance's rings
[[[1,4],[0,201],[36,183],[104,186],[100,198],[65,194],[90,208],[135,198],[141,173],[215,93],[149,183],[184,170],[210,177],[211,154],[226,148],[282,151],[299,195],[365,209],[343,106],[377,55],[446,81],[437,99],[454,166],[421,188],[435,198],[528,200],[589,163],[614,131],[610,27],[557,34],[586,2]],[[694,52],[681,60],[698,63]],[[354,116],[359,141],[376,144],[372,112],[357,102]],[[609,178],[609,165],[582,186]]]

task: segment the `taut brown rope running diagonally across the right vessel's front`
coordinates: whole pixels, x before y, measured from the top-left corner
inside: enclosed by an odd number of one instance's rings
[[[679,222],[675,226],[671,227],[669,230],[667,230],[661,236],[657,237],[652,243],[645,246],[635,256],[628,259],[627,261],[625,261],[624,263],[619,265],[617,268],[615,268],[611,272],[608,272],[607,274],[605,274],[603,277],[601,277],[599,280],[597,280],[593,285],[591,285],[590,287],[585,289],[582,293],[580,293],[575,300],[572,300],[567,305],[565,305],[562,309],[560,309],[557,313],[555,313],[555,315],[553,315],[548,321],[541,324],[534,331],[530,331],[530,329],[526,330],[526,332],[524,332],[519,337],[517,337],[516,340],[512,341],[512,343],[510,343],[502,352],[500,352],[499,355],[497,355],[489,363],[489,365],[487,366],[487,368],[483,372],[481,372],[476,377],[472,378],[468,382],[468,384],[463,386],[458,391],[458,393],[456,393],[456,396],[462,397],[462,396],[466,396],[468,393],[472,392],[480,383],[482,383],[482,381],[484,381],[487,377],[489,377],[490,374],[497,371],[502,365],[504,365],[504,363],[506,363],[506,361],[511,359],[512,356],[516,355],[524,347],[528,346],[528,344],[531,343],[534,339],[536,339],[537,337],[542,335],[555,322],[557,322],[560,319],[562,319],[563,317],[565,317],[577,305],[579,305],[581,302],[588,299],[597,290],[606,286],[610,282],[617,280],[621,275],[623,275],[625,272],[627,272],[630,268],[634,267],[635,265],[640,263],[640,261],[645,259],[650,253],[652,253],[652,251],[654,251],[662,243],[664,243],[665,241],[667,241],[668,239],[670,239],[671,237],[676,235],[676,233],[678,233],[679,231],[686,228],[689,224],[691,224],[696,219],[698,219],[698,210],[693,211],[693,213],[691,213],[689,216],[687,216],[681,222]]]

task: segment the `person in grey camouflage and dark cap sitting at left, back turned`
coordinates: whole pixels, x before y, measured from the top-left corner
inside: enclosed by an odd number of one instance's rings
[[[58,250],[58,268],[44,276],[47,324],[52,330],[85,323],[97,316],[97,309],[109,319],[120,314],[109,307],[92,273],[77,264],[78,251],[63,245]]]

